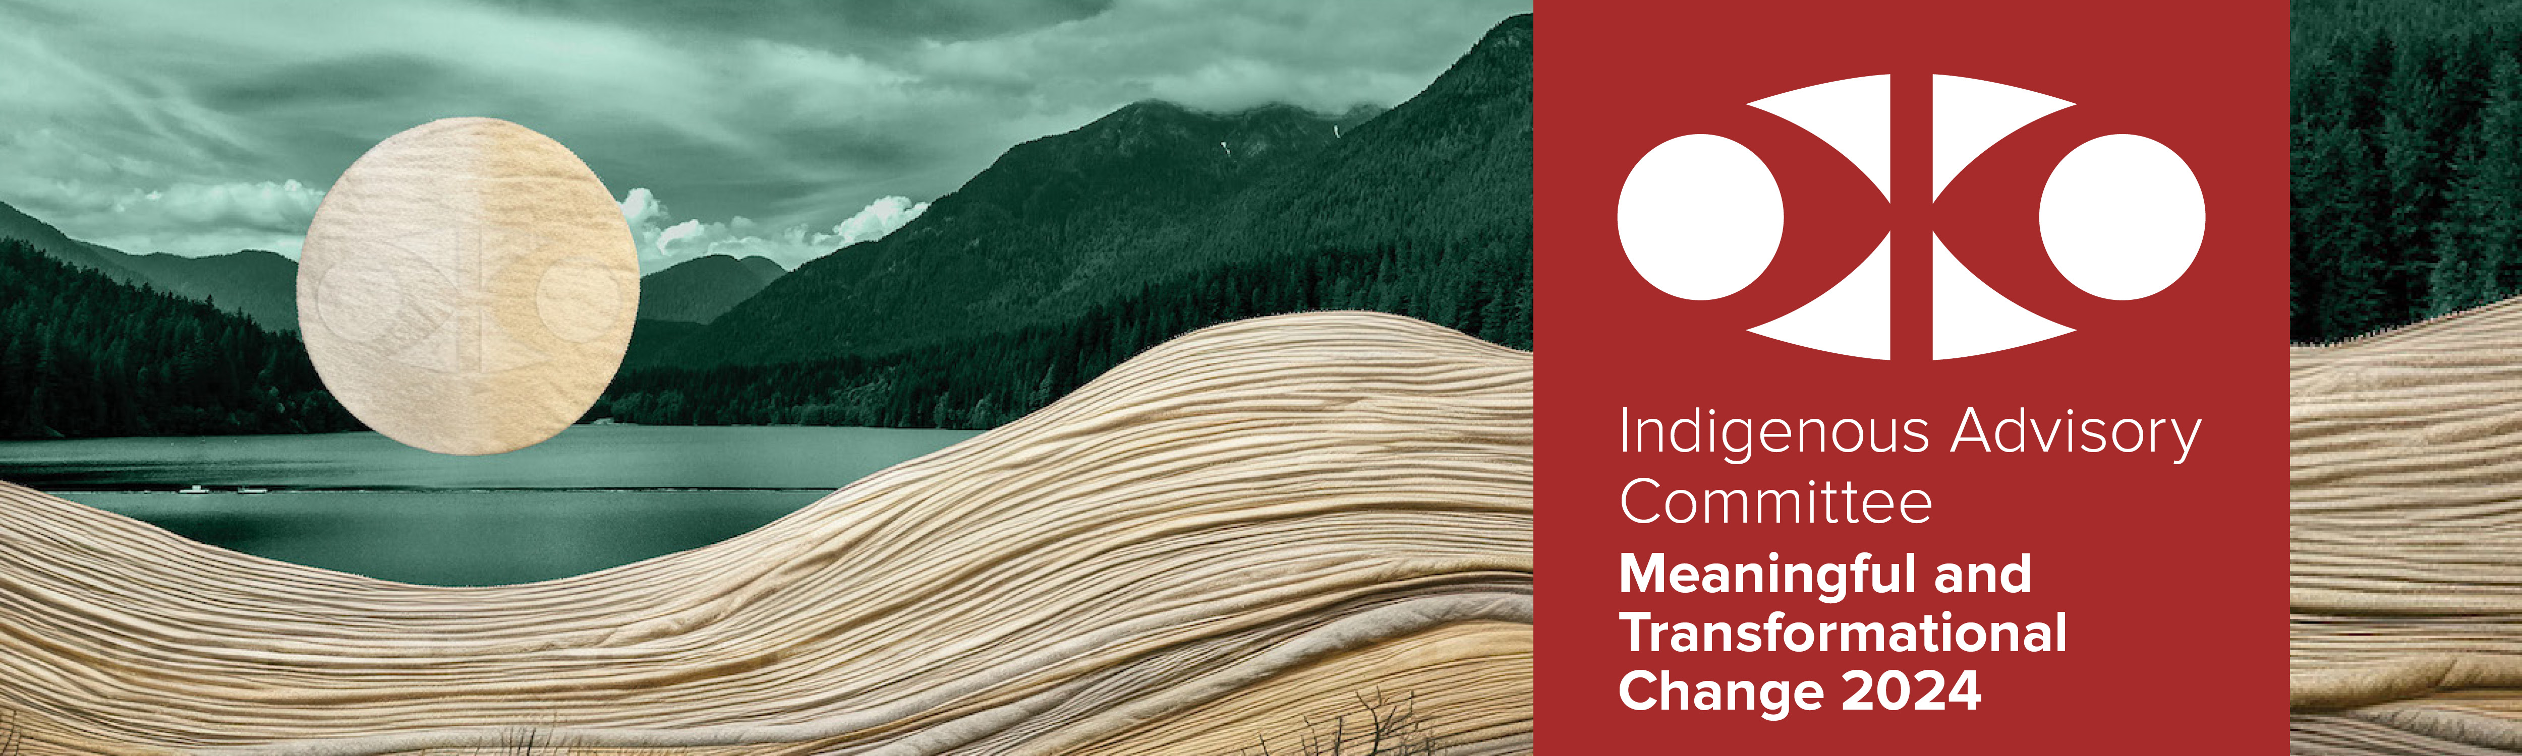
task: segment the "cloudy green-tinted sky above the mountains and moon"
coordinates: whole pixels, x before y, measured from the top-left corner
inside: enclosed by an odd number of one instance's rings
[[[0,202],[134,255],[295,257],[323,189],[446,116],[578,151],[643,267],[794,267],[1140,98],[1410,98],[1531,0],[0,0]]]

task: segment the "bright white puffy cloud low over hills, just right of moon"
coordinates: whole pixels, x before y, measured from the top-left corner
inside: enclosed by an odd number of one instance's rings
[[[726,222],[671,222],[666,202],[646,186],[623,194],[620,207],[623,219],[630,224],[630,237],[638,242],[641,275],[706,255],[769,257],[779,267],[797,270],[797,265],[832,255],[832,249],[883,239],[921,217],[921,212],[928,212],[928,202],[880,197],[830,229],[810,224],[772,229],[741,214]]]

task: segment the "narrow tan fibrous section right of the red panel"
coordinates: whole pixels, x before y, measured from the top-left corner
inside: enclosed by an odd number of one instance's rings
[[[2295,751],[2522,751],[2522,300],[2290,383]]]

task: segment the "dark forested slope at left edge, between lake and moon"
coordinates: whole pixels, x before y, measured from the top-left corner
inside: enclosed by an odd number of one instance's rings
[[[0,239],[0,438],[356,428],[295,335]]]

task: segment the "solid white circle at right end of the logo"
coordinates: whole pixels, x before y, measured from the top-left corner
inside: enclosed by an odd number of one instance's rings
[[[2189,272],[2204,237],[2199,176],[2154,139],[2086,141],[2040,189],[2040,244],[2068,282],[2103,300],[2161,292]]]

